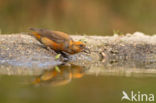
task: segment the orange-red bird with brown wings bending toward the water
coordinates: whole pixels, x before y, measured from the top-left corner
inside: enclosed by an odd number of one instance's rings
[[[81,51],[89,51],[84,43],[81,41],[73,41],[67,33],[38,28],[30,28],[30,30],[33,31],[32,34],[37,40],[56,52],[75,54]]]

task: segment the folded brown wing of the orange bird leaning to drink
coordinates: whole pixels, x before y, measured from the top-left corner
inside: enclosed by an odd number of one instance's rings
[[[47,37],[56,43],[65,43],[72,40],[68,34],[59,31],[50,31],[47,29],[30,28],[30,30],[39,33],[42,37]]]

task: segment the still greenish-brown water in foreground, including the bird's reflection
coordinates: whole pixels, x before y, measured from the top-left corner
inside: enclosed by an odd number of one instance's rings
[[[31,76],[1,74],[0,102],[120,103],[122,91],[156,94],[155,79],[153,74],[111,76],[90,73],[77,65],[61,65]]]

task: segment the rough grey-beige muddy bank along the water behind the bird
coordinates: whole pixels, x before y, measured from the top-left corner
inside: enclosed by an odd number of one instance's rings
[[[72,36],[81,40],[90,48],[91,54],[79,53],[72,55],[70,63],[87,68],[156,68],[156,35],[147,36],[143,33],[126,34],[124,36]],[[33,37],[21,33],[0,35],[0,61],[28,59],[38,61],[33,68],[42,62],[60,64],[55,60],[57,54],[46,50]],[[31,58],[31,59],[30,59]],[[37,64],[38,63],[38,64]],[[2,66],[2,65],[1,65]],[[4,66],[4,65],[3,65]]]

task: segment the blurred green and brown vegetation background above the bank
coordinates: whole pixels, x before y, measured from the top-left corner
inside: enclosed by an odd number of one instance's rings
[[[0,31],[29,27],[71,34],[156,33],[155,0],[0,0]]]

